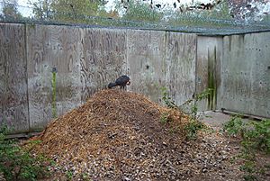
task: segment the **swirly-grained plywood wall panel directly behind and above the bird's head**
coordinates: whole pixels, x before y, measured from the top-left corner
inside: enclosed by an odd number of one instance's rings
[[[85,29],[81,59],[81,100],[106,88],[122,74],[127,74],[126,31]]]

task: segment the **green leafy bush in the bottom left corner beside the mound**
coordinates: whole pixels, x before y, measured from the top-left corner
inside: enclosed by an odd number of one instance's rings
[[[7,140],[7,128],[0,130],[0,173],[6,180],[37,180],[49,172],[42,165],[46,158],[32,157],[27,150],[18,145],[17,140]]]

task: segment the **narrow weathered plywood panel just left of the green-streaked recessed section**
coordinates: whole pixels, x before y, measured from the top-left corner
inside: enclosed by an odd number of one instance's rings
[[[166,86],[178,105],[195,93],[195,34],[166,32]]]

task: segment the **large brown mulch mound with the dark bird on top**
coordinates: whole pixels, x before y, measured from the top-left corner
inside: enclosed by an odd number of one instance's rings
[[[186,142],[187,122],[184,113],[144,95],[103,90],[50,122],[33,150],[56,161],[51,169],[72,172],[76,180],[181,180],[225,170],[225,143],[216,136]]]

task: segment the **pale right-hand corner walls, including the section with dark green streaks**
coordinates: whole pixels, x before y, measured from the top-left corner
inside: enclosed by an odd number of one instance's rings
[[[215,92],[199,110],[225,109],[270,118],[270,32],[198,36],[196,93]]]

